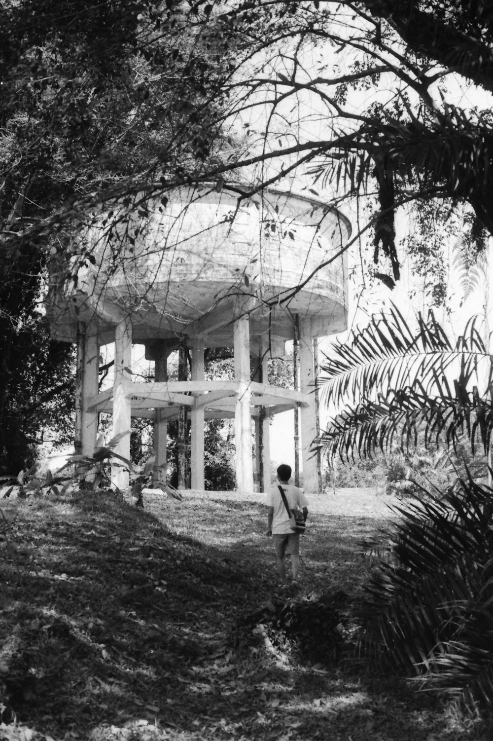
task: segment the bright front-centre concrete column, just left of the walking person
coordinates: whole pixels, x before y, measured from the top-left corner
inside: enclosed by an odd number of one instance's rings
[[[253,491],[252,418],[250,415],[250,333],[248,316],[241,316],[233,325],[235,381],[239,383],[235,408],[236,488]]]

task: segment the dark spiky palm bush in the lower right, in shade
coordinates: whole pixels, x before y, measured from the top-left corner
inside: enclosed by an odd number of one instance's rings
[[[366,651],[472,707],[493,702],[492,496],[469,477],[396,508],[363,608]]]

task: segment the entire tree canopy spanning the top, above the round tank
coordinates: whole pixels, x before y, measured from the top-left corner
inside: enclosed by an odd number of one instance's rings
[[[413,207],[419,236],[425,211],[445,223],[466,205],[466,242],[482,249],[493,233],[492,18],[480,0],[10,0],[2,285],[17,281],[28,306],[50,256],[92,262],[73,233],[102,203],[133,207],[200,181],[241,199],[294,173],[297,187],[352,210],[345,246],[372,235],[372,272],[387,285],[400,276],[396,221]],[[432,282],[440,234],[408,240]],[[0,299],[7,338],[20,314]]]

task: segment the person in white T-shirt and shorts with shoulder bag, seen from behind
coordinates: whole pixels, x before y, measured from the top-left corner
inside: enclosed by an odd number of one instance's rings
[[[282,487],[289,509],[302,509],[306,522],[308,516],[308,502],[297,486],[290,484],[291,466],[283,463],[278,468],[279,486]],[[281,582],[287,584],[286,565],[284,557],[291,556],[291,571],[293,584],[297,583],[300,571],[300,534],[295,533],[289,527],[289,515],[284,506],[279,487],[272,488],[267,494],[267,532],[274,539],[275,555]]]

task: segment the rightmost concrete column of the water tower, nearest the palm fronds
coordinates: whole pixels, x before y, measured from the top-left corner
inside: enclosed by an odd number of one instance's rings
[[[307,394],[308,406],[301,406],[301,453],[303,459],[303,491],[307,496],[318,494],[316,453],[311,453],[317,436],[315,411],[315,371],[313,367],[312,326],[309,319],[300,322],[300,390]]]

